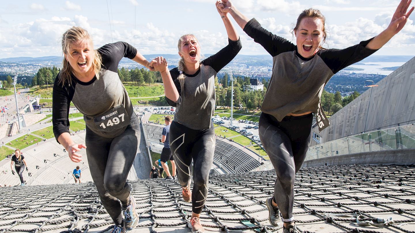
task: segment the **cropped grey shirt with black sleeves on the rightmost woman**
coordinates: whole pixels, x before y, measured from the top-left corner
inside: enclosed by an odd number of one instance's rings
[[[271,80],[261,111],[278,121],[290,113],[317,113],[322,91],[330,78],[376,51],[365,47],[369,39],[346,49],[320,49],[311,58],[303,58],[297,46],[267,31],[256,19],[247,23],[244,32],[273,57]]]

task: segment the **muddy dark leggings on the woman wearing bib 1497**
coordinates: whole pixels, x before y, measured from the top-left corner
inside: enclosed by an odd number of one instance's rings
[[[115,224],[123,226],[122,209],[128,205],[128,172],[140,143],[140,125],[133,113],[131,123],[115,138],[98,136],[86,127],[86,155],[92,180],[101,202]]]

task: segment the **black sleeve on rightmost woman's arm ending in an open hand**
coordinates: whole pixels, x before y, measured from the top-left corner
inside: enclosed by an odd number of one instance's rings
[[[335,74],[347,66],[359,62],[378,51],[377,49],[366,48],[366,45],[369,44],[372,39],[373,38],[367,41],[361,41],[359,44],[346,49],[324,49],[319,51],[318,55]]]

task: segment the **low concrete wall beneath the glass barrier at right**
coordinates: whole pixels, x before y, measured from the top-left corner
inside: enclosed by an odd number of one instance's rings
[[[415,163],[415,149],[383,150],[308,160],[303,167],[351,164]]]

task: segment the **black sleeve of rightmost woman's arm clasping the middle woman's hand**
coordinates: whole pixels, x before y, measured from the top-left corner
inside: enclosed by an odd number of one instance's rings
[[[264,29],[255,18],[249,20],[244,27],[244,32],[248,34],[256,43],[259,43],[264,49],[271,54],[277,56],[280,53],[295,51],[296,46],[290,41],[276,36]]]

